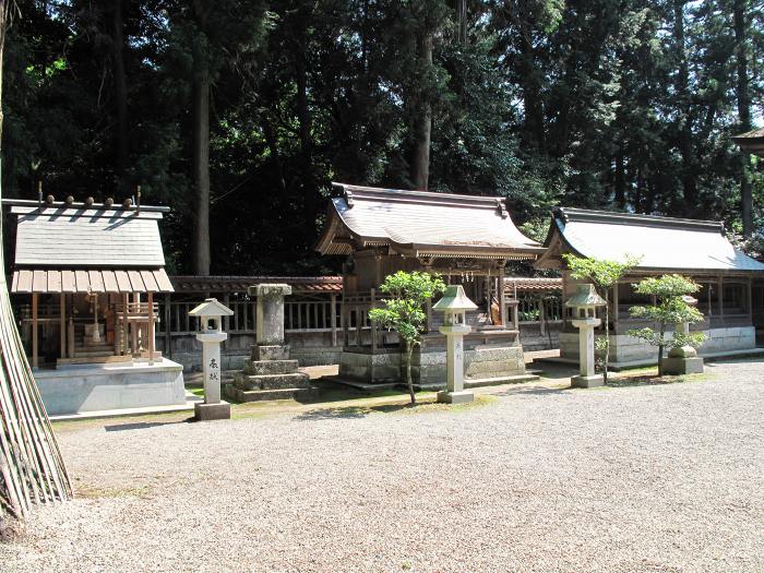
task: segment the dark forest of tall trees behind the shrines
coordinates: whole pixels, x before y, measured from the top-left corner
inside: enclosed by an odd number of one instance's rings
[[[754,254],[757,0],[19,0],[4,196],[141,186],[171,273],[333,273],[331,181],[724,219]],[[743,240],[744,239],[744,240]],[[8,239],[7,239],[8,240]]]

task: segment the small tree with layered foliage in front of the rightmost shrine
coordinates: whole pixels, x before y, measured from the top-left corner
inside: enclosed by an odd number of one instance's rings
[[[701,332],[684,334],[678,327],[672,338],[667,339],[666,337],[666,327],[669,325],[679,325],[684,322],[692,324],[703,321],[703,313],[682,298],[697,293],[700,288],[697,283],[680,275],[645,278],[636,285],[636,293],[654,296],[656,303],[646,307],[632,307],[629,309],[629,312],[634,318],[656,322],[658,330],[645,326],[644,329],[632,329],[628,334],[658,347],[659,377],[664,375],[664,348],[667,346],[669,348],[682,346],[697,348],[705,339],[705,335]]]

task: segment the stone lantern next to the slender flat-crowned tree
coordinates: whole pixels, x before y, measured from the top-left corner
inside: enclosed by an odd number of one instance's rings
[[[575,295],[565,302],[573,309],[573,326],[578,329],[578,363],[577,377],[571,378],[571,385],[576,387],[595,387],[605,384],[601,374],[595,372],[594,362],[594,330],[601,324],[596,317],[597,307],[604,307],[606,301],[594,288],[594,285],[580,285]]]

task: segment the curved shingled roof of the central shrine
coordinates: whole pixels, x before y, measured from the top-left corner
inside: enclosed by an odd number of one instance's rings
[[[387,247],[407,256],[534,259],[544,250],[517,230],[501,196],[334,186],[344,196],[330,205],[322,254]]]

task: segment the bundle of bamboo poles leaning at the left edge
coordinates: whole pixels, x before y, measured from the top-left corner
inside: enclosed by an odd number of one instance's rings
[[[0,103],[2,56],[12,9],[14,2],[0,0]],[[72,488],[13,320],[2,251],[0,243],[0,515],[4,511],[24,517],[32,503],[69,499]]]

